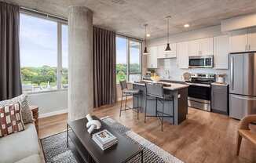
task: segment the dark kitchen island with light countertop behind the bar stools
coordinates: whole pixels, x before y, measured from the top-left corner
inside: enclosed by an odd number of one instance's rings
[[[148,82],[148,81],[147,81]],[[179,125],[182,121],[185,121],[188,114],[188,85],[179,84],[179,83],[170,83],[170,82],[160,82],[163,83],[163,92],[164,94],[174,96],[174,113],[173,113],[173,102],[165,101],[164,102],[164,113],[174,115],[174,125]],[[133,107],[137,107],[137,100],[139,106],[141,106],[142,112],[144,112],[144,107],[146,103],[146,87],[144,82],[132,82],[133,89],[141,90],[141,97],[133,97]],[[155,115],[155,100],[148,100],[147,103],[147,114]],[[157,109],[162,110],[163,103],[157,103]],[[173,118],[164,118],[164,121],[170,123],[173,122]]]

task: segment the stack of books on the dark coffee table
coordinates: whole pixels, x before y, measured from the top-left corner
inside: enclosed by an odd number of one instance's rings
[[[101,147],[101,150],[106,150],[118,142],[117,138],[111,132],[108,132],[107,129],[93,134],[93,141]]]

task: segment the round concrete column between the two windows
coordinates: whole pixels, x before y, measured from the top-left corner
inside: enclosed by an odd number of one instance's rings
[[[68,120],[93,110],[93,12],[84,6],[68,9]]]

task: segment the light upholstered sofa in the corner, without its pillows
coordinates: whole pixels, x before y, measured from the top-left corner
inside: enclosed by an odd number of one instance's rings
[[[38,135],[34,123],[25,130],[0,138],[0,163],[41,163]]]

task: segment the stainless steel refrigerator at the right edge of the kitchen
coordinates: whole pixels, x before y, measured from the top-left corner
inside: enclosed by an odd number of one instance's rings
[[[230,53],[229,116],[256,114],[256,52]]]

